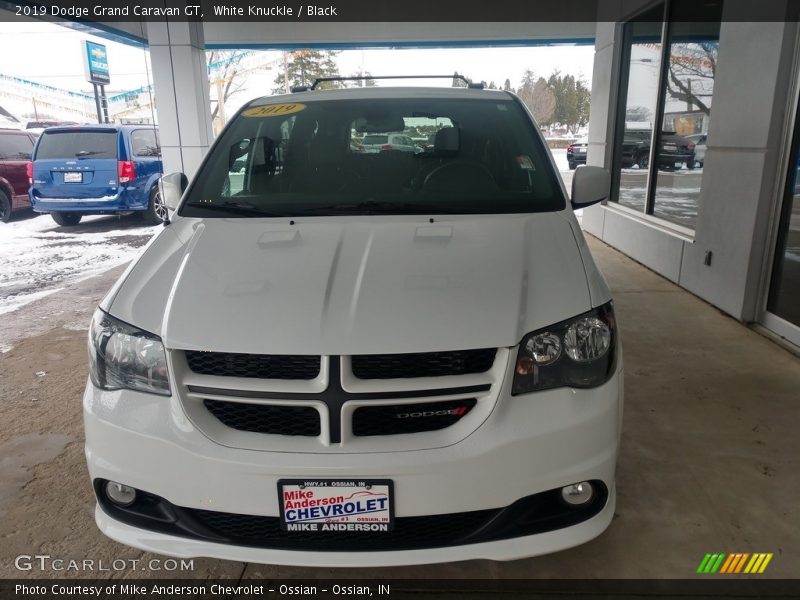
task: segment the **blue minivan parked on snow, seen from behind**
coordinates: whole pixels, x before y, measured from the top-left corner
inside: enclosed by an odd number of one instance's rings
[[[33,150],[33,210],[62,226],[83,215],[140,212],[162,222],[161,147],[153,125],[50,127]]]

